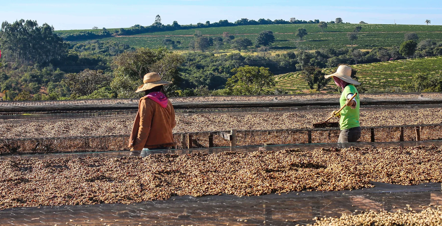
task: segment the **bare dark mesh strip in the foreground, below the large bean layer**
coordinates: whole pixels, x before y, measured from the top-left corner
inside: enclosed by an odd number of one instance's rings
[[[315,222],[361,211],[408,212],[442,204],[440,183],[414,186],[373,182],[374,188],[339,192],[288,192],[261,196],[177,196],[145,203],[12,208],[0,211],[0,225],[269,225]],[[404,209],[405,208],[405,209]]]

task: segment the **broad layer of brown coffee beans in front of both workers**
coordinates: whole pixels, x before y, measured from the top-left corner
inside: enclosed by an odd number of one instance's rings
[[[0,160],[0,209],[442,182],[442,147]]]

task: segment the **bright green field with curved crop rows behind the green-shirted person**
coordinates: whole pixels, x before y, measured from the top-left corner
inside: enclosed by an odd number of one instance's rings
[[[365,88],[393,88],[400,87],[412,79],[415,73],[433,73],[442,75],[442,57],[427,57],[412,59],[404,62],[387,61],[371,64],[351,65],[356,69],[358,80]],[[336,68],[324,69],[324,72],[331,74]],[[275,76],[276,88],[290,93],[309,92],[307,83],[302,80],[300,72],[287,73]],[[330,81],[325,91],[332,92],[336,85]]]

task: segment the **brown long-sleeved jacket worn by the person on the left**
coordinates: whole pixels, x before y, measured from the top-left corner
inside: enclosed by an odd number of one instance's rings
[[[138,112],[130,134],[132,150],[175,146],[172,129],[175,127],[175,111],[168,100],[167,107],[145,96],[138,103]]]

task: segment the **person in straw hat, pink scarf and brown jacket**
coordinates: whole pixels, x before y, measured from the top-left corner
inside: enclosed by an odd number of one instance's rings
[[[176,125],[175,111],[168,100],[163,85],[171,82],[161,80],[158,73],[144,76],[144,84],[136,92],[145,92],[138,103],[138,112],[130,134],[132,155],[147,155],[147,151],[163,150],[175,146],[172,129]]]

